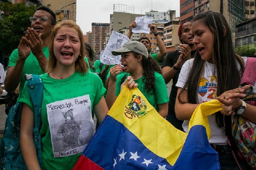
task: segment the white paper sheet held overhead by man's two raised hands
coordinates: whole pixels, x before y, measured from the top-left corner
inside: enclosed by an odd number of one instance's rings
[[[148,16],[136,17],[135,22],[137,26],[135,28],[132,28],[132,32],[149,34],[150,28],[148,27],[148,24],[152,23],[152,17],[148,17]]]

